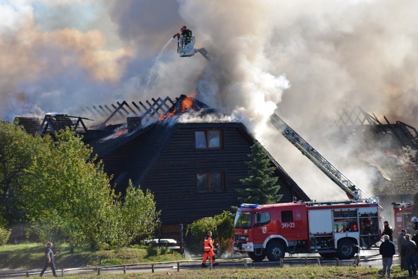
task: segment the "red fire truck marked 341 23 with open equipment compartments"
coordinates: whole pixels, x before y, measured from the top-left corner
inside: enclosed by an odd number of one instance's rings
[[[380,241],[380,207],[375,200],[246,204],[234,223],[234,250],[254,261],[289,254],[319,253],[349,259],[357,248]]]

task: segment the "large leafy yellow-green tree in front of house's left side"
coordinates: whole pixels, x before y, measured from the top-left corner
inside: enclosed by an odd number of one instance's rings
[[[72,247],[107,248],[116,228],[115,201],[103,163],[90,159],[92,150],[69,128],[56,140],[46,136],[36,150],[30,175],[20,192],[29,220],[40,236],[68,242]]]

